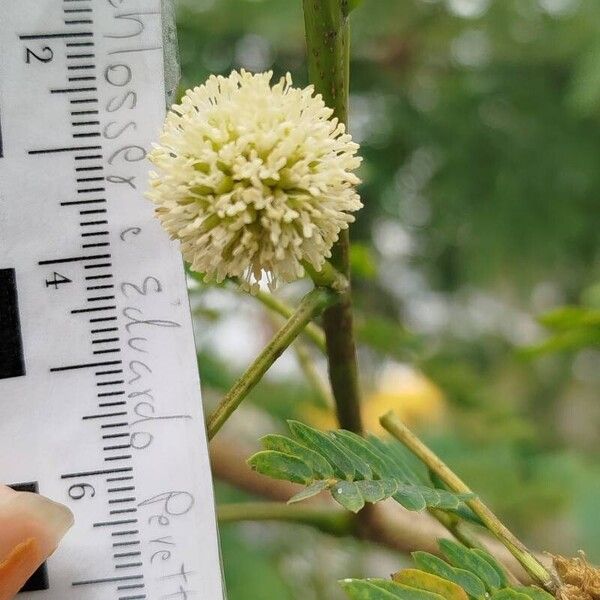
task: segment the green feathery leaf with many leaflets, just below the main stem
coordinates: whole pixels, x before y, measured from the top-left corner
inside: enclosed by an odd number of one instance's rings
[[[263,437],[264,450],[248,464],[268,477],[305,485],[290,502],[328,490],[336,502],[355,513],[366,502],[390,497],[408,510],[464,509],[461,501],[465,497],[436,488],[422,465],[415,464],[398,442],[383,442],[374,436],[365,439],[345,430],[318,431],[298,421],[288,425],[293,438]],[[472,560],[482,561],[477,556]]]

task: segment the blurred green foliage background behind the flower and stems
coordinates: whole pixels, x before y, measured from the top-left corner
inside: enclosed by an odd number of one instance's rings
[[[241,67],[306,84],[300,0],[179,0],[178,27],[185,87]],[[352,27],[365,420],[399,410],[528,543],[598,561],[600,2],[365,0]],[[276,321],[190,288],[210,407]],[[333,425],[294,353],[276,367],[224,435]],[[341,598],[336,578],[404,560],[297,526],[222,538],[230,600]]]

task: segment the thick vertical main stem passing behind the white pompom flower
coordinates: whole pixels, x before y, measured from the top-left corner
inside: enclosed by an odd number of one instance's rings
[[[308,74],[315,91],[343,123],[348,123],[349,43],[350,30],[347,0],[303,0]],[[332,264],[350,278],[350,237],[340,234],[333,248]],[[362,432],[360,390],[354,341],[350,290],[323,315],[327,341],[329,378],[340,425]]]

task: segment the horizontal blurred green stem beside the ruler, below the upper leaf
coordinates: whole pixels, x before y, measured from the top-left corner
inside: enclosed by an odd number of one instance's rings
[[[337,508],[288,505],[279,502],[222,504],[217,508],[219,523],[239,521],[283,521],[316,527],[332,535],[352,535],[354,515]]]

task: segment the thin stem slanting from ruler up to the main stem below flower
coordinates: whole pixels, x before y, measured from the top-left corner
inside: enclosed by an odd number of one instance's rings
[[[335,300],[335,293],[324,288],[315,288],[300,302],[294,314],[275,334],[246,372],[233,384],[221,400],[214,413],[208,418],[208,439],[211,440],[241,404],[248,392],[261,380],[271,365],[298,337],[310,320]]]

